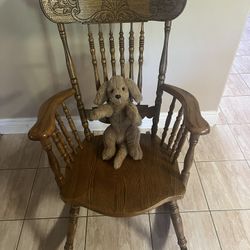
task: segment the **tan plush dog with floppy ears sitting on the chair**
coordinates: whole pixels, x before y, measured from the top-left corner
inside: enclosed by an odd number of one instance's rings
[[[141,160],[143,156],[138,129],[141,117],[137,107],[132,103],[131,97],[137,103],[142,100],[136,84],[122,76],[113,76],[99,88],[94,101],[98,107],[90,113],[91,120],[99,120],[104,117],[110,119],[111,125],[103,135],[102,158],[109,160],[115,156],[115,169],[121,167],[127,154],[134,160]],[[116,145],[119,148],[117,153]]]

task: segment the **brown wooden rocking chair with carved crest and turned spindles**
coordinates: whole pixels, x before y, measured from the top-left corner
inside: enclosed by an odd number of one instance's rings
[[[73,249],[73,240],[77,226],[77,217],[81,206],[109,216],[134,216],[144,213],[163,203],[169,203],[171,219],[181,249],[187,249],[183,225],[177,206],[186,190],[194,149],[199,136],[209,132],[208,123],[201,117],[197,100],[188,92],[164,83],[167,68],[167,48],[171,20],[184,9],[186,0],[40,0],[44,14],[57,23],[62,40],[67,69],[72,87],[48,99],[40,108],[38,121],[29,132],[31,140],[40,141],[47,152],[50,167],[55,174],[62,200],[71,205],[70,220],[65,249]],[[138,87],[142,90],[142,67],[144,52],[144,22],[161,21],[165,23],[164,42],[159,66],[159,76],[155,105],[138,105],[142,117],[152,118],[151,134],[141,135],[143,160],[133,161],[127,157],[123,166],[115,170],[112,163],[101,159],[102,136],[93,136],[88,126],[89,110],[85,109],[75,67],[69,50],[65,24],[79,22],[88,26],[88,38],[96,89],[100,87],[98,60],[91,31],[93,24],[98,24],[100,65],[103,80],[110,75],[107,70],[105,39],[103,26],[109,26],[109,53],[111,75],[116,75],[116,50],[114,23],[119,23],[119,64],[122,76],[126,76],[124,25],[130,23],[129,32],[129,78],[134,79],[135,36],[133,23],[139,22],[139,58]],[[162,95],[172,96],[165,128],[160,139],[157,134]],[[85,139],[81,140],[65,101],[75,98]],[[181,108],[173,118],[175,104]],[[64,117],[58,110],[62,107]],[[172,119],[173,118],[173,119]],[[171,120],[174,120],[173,122]],[[67,121],[66,126],[64,122]],[[167,136],[169,128],[172,128]],[[68,132],[68,128],[72,133]],[[177,159],[186,138],[190,134],[189,147],[184,160],[184,167],[179,171]],[[72,136],[73,135],[73,136]],[[168,137],[168,142],[165,143]],[[76,143],[76,145],[74,145]],[[58,151],[60,155],[55,153]],[[62,174],[60,161],[66,165]]]

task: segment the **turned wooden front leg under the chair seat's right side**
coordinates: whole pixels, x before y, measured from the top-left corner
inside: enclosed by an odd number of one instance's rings
[[[169,204],[170,204],[171,219],[178,239],[178,244],[181,250],[187,250],[187,240],[184,236],[183,224],[179,207],[176,201],[172,201]]]

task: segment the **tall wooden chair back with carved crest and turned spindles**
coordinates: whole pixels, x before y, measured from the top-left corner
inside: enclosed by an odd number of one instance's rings
[[[143,88],[143,61],[144,61],[144,23],[148,21],[162,21],[165,23],[164,42],[159,62],[159,75],[157,84],[157,96],[155,105],[148,107],[147,105],[139,105],[139,112],[142,117],[153,118],[152,134],[157,132],[157,124],[159,122],[161,94],[159,86],[165,81],[167,69],[167,50],[169,32],[171,28],[171,20],[177,17],[184,9],[186,0],[40,0],[44,14],[52,21],[57,23],[58,31],[64,47],[67,69],[71,81],[72,88],[75,90],[75,99],[77,108],[84,127],[87,138],[91,137],[88,126],[87,113],[82,101],[81,90],[76,75],[75,65],[71,56],[68,45],[68,37],[66,33],[66,25],[69,23],[80,23],[88,27],[88,42],[92,58],[92,64],[95,76],[96,89],[100,87],[103,81],[108,80],[111,76],[122,75],[135,80],[139,89]],[[140,23],[139,39],[135,41],[134,23]],[[119,23],[118,47],[116,51],[115,34],[113,26]],[[92,32],[94,25],[98,25],[97,41]],[[129,25],[129,46],[125,48],[124,25]],[[108,34],[104,34],[103,28]],[[108,36],[108,46],[105,35]],[[99,48],[96,48],[96,42]],[[135,43],[138,44],[138,58],[135,58]],[[105,46],[106,45],[106,46]],[[99,51],[100,56],[97,56]],[[128,53],[128,61],[126,55]],[[107,59],[109,54],[110,59]],[[119,54],[119,55],[118,55]],[[98,62],[100,58],[100,62]],[[109,74],[107,64],[111,65]],[[120,70],[117,71],[117,64]],[[135,65],[137,64],[137,65]],[[128,70],[126,70],[126,65]],[[98,67],[101,66],[101,69]],[[136,66],[136,67],[135,67]],[[135,68],[138,69],[135,72]],[[157,82],[157,79],[156,79]]]

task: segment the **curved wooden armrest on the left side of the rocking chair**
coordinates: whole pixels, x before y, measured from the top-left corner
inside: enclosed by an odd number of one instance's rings
[[[67,89],[50,97],[39,109],[37,122],[30,129],[30,140],[40,141],[50,137],[55,130],[55,114],[58,106],[75,94],[74,89]]]

